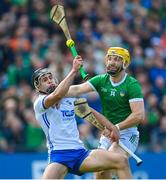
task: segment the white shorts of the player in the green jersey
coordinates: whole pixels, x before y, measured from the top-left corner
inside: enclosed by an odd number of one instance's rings
[[[137,127],[132,127],[120,131],[120,141],[132,152],[135,152],[139,143],[139,131],[137,130]],[[111,145],[111,140],[102,135],[99,141],[98,148],[108,150]]]

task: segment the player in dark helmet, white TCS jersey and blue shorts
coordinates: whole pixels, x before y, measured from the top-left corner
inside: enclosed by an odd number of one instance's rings
[[[131,174],[126,166],[126,156],[101,149],[88,151],[79,138],[74,114],[75,98],[64,96],[82,65],[82,58],[77,56],[71,71],[59,85],[47,68],[36,70],[32,76],[38,93],[34,101],[35,116],[46,135],[48,148],[48,165],[43,179],[63,179],[68,172],[82,175],[112,168],[117,169],[119,178],[129,179]],[[93,112],[100,117],[98,112]],[[110,138],[118,142],[116,127],[107,120],[105,122],[103,125],[110,132]]]

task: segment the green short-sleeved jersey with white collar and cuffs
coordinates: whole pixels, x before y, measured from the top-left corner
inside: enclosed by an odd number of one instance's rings
[[[103,115],[113,124],[131,114],[130,102],[143,101],[140,84],[128,74],[119,83],[113,83],[108,74],[95,76],[88,82],[100,96]]]

